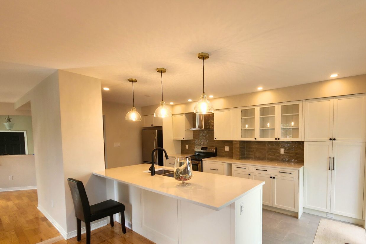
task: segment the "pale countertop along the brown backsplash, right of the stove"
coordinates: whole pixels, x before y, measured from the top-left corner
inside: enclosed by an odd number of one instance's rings
[[[224,162],[224,163],[241,163],[241,164],[249,164],[255,166],[269,166],[275,168],[284,168],[284,169],[300,169],[304,167],[303,163],[287,163],[287,162],[279,162],[279,161],[266,161],[266,160],[251,160],[251,159],[231,159],[224,157],[213,157],[213,158],[205,158],[205,161],[212,162]]]

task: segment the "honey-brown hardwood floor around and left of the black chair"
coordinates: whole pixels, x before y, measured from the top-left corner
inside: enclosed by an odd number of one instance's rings
[[[37,209],[37,190],[0,192],[0,244],[37,244],[60,236],[60,233]],[[76,237],[53,242],[56,244],[85,243]],[[127,228],[123,234],[121,225],[115,222],[91,232],[93,244],[154,244]],[[51,244],[51,243],[48,243]]]

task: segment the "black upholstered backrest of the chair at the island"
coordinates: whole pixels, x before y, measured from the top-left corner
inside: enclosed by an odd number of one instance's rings
[[[83,182],[73,178],[67,179],[74,202],[75,217],[83,222],[90,222],[90,205]]]

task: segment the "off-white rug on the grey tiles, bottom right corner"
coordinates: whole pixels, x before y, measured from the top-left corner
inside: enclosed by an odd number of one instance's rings
[[[366,244],[365,229],[333,221],[321,219],[313,244]]]

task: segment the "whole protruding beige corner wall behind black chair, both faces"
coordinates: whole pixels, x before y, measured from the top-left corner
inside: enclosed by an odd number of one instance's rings
[[[76,230],[67,178],[83,181],[90,204],[107,200],[100,80],[56,71],[15,103],[31,102],[38,206],[64,236]],[[53,206],[51,202],[53,201]]]

